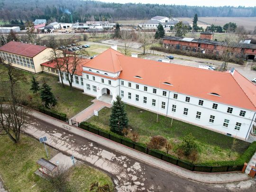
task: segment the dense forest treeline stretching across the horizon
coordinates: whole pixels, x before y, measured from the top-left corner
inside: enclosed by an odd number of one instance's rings
[[[166,17],[256,17],[255,7],[205,7],[141,3],[105,3],[91,0],[0,0],[0,18],[73,22],[114,21]]]

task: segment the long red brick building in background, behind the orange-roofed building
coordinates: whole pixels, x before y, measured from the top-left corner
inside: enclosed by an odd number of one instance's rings
[[[201,33],[200,39],[165,36],[163,45],[165,48],[221,55],[227,49],[226,43],[212,41],[212,38],[213,34],[209,32]],[[256,60],[256,44],[238,43],[231,54],[238,58]]]

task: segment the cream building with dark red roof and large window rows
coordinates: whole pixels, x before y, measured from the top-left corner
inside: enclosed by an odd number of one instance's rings
[[[14,67],[33,73],[42,72],[41,63],[49,60],[51,49],[45,46],[23,43],[8,42],[0,47],[0,58],[9,60]]]

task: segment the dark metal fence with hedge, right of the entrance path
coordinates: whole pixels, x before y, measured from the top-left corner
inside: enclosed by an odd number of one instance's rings
[[[201,165],[194,165],[189,162],[182,161],[180,159],[176,159],[173,156],[166,154],[164,151],[159,150],[152,150],[148,149],[144,144],[142,143],[135,143],[130,140],[128,140],[125,137],[122,136],[116,136],[114,134],[110,134],[108,132],[102,131],[100,129],[93,128],[88,125],[79,124],[78,126],[84,130],[90,131],[91,133],[98,134],[102,137],[108,138],[114,142],[121,143],[127,147],[130,147],[132,149],[138,150],[140,152],[146,153],[148,155],[151,155],[157,159],[162,159],[168,163],[174,164],[179,167],[183,167],[185,169],[191,170],[191,171],[197,171],[197,172],[207,172],[207,173],[219,173],[219,172],[231,172],[231,171],[242,171],[243,165],[239,166],[201,166]]]

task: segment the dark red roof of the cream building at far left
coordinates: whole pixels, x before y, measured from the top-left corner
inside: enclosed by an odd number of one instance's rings
[[[29,43],[22,42],[9,42],[0,47],[0,50],[6,51],[9,53],[22,55],[25,57],[33,58],[41,51],[45,50],[47,47],[34,45]]]

